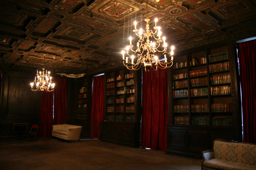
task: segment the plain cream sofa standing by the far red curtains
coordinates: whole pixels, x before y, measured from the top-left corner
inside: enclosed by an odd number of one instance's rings
[[[52,136],[65,140],[79,140],[82,126],[76,125],[52,125]]]

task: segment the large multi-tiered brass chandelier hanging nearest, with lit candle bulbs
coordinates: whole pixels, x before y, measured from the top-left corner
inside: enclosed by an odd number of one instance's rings
[[[147,12],[147,2],[146,2],[146,12]],[[146,31],[143,31],[142,28],[140,30],[136,29],[137,22],[134,22],[135,29],[133,32],[138,36],[139,40],[136,44],[137,49],[133,50],[132,47],[132,37],[130,36],[130,45],[126,47],[126,52],[123,50],[123,64],[127,69],[129,70],[138,70],[140,69],[142,63],[144,64],[145,71],[151,69],[153,67],[154,70],[157,70],[157,68],[165,69],[168,67],[171,67],[173,65],[173,55],[174,55],[174,46],[171,47],[172,51],[170,53],[170,59],[168,60],[168,52],[167,52],[167,44],[165,42],[165,37],[163,36],[163,41],[161,40],[161,31],[160,27],[156,25],[157,18],[155,19],[155,31],[152,31],[149,29],[148,22],[150,19],[145,19],[146,21]],[[156,34],[158,30],[158,35]],[[155,37],[155,35],[157,37]],[[150,38],[153,40],[156,40],[155,42],[150,41]],[[144,42],[145,41],[145,42]],[[162,43],[163,42],[163,43]],[[162,44],[162,45],[161,45]],[[130,56],[129,54],[129,48],[132,52],[135,53],[135,56]],[[155,53],[163,53],[163,56],[159,58]]]

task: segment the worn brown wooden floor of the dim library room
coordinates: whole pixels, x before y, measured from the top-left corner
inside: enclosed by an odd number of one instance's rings
[[[0,140],[0,169],[201,169],[200,160],[83,139],[63,142],[46,137],[38,141]]]

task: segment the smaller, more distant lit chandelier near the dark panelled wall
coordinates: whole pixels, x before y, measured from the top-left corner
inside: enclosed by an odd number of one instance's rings
[[[35,84],[36,84],[36,88],[34,88],[34,82],[30,83],[31,85],[31,90],[32,91],[53,91],[54,90],[54,83],[51,84],[51,77],[50,76],[50,72],[48,71],[47,74],[47,70],[46,70],[46,74],[45,74],[45,69],[43,69],[43,72],[41,73],[41,71],[38,74],[38,70],[37,70],[37,76],[35,76]],[[37,77],[37,80],[36,80]],[[49,81],[50,78],[50,81]],[[37,81],[37,82],[36,82]]]

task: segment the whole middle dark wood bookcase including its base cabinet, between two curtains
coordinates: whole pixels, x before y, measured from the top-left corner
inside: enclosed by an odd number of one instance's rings
[[[141,69],[105,73],[101,141],[140,146]]]

